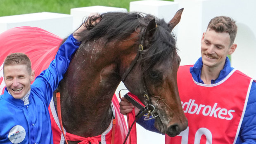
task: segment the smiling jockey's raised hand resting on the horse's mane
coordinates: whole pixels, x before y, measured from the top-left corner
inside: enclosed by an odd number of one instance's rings
[[[76,38],[76,39],[78,39],[78,35],[76,35],[76,33],[80,33],[80,32],[82,32],[82,31],[86,30],[86,29],[87,29],[86,26],[88,26],[89,19],[90,19],[90,18],[93,19],[94,17],[100,17],[100,14],[91,13],[91,14],[89,15],[89,18],[88,18],[88,19],[85,19],[85,22],[84,22],[78,29],[76,29],[76,31],[73,33],[73,37]],[[95,21],[91,21],[91,24],[92,24],[93,26],[95,26],[95,25],[98,24],[100,21],[101,21],[101,18],[98,18],[98,19],[96,19]]]

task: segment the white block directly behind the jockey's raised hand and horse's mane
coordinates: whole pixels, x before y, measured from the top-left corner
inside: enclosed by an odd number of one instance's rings
[[[91,13],[102,14],[105,12],[127,12],[127,9],[105,6],[73,8],[70,10],[70,14],[73,16],[73,30],[76,30]]]

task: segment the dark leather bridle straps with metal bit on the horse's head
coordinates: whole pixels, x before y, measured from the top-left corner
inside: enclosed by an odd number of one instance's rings
[[[127,77],[128,74],[130,73],[130,71],[133,69],[133,67],[135,66],[136,62],[137,62],[137,61],[141,61],[141,59],[142,59],[142,57],[143,57],[143,46],[145,45],[145,36],[146,36],[145,29],[146,29],[146,28],[143,27],[142,30],[141,30],[141,33],[142,33],[142,34],[140,35],[140,45],[139,45],[139,48],[138,48],[138,50],[137,50],[137,55],[136,55],[135,59],[133,59],[133,61],[132,61],[131,65],[130,65],[130,67],[129,67],[129,68],[126,70],[126,72],[123,74],[123,76],[122,76],[122,82],[125,81],[126,77]],[[140,58],[140,60],[138,60],[139,57],[140,57],[140,55],[141,55],[142,57]],[[143,65],[142,65],[142,67],[143,67]],[[151,103],[151,101],[150,101],[150,99],[149,99],[149,96],[148,96],[148,93],[147,93],[147,87],[146,87],[146,85],[145,85],[145,78],[144,78],[144,77],[143,77],[143,87],[144,87],[145,91],[142,92],[142,95],[144,96],[144,98],[146,99],[146,102],[147,102],[147,105],[146,105],[145,107],[142,106],[142,105],[135,104],[135,101],[134,101],[133,99],[127,98],[127,100],[128,100],[129,102],[131,102],[133,105],[135,105],[137,108],[139,108],[140,111],[142,111],[142,113],[144,113],[144,114],[147,113],[147,114],[144,115],[144,116],[146,116],[144,120],[150,120],[150,119],[152,119],[152,118],[156,118],[158,115],[157,115],[157,113],[156,113],[155,107],[152,105],[152,103]],[[152,117],[150,118],[150,116],[152,116]]]

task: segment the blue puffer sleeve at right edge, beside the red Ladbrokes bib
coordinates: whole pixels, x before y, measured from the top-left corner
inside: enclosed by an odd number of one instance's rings
[[[256,144],[256,82],[253,81],[236,144]]]

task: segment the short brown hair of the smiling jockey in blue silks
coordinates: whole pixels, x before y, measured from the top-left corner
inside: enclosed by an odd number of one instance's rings
[[[9,54],[4,61],[3,64],[3,70],[5,69],[5,66],[13,66],[17,64],[23,64],[27,66],[28,73],[31,74],[32,68],[31,68],[31,61],[28,58],[28,56],[24,53],[12,53]]]

